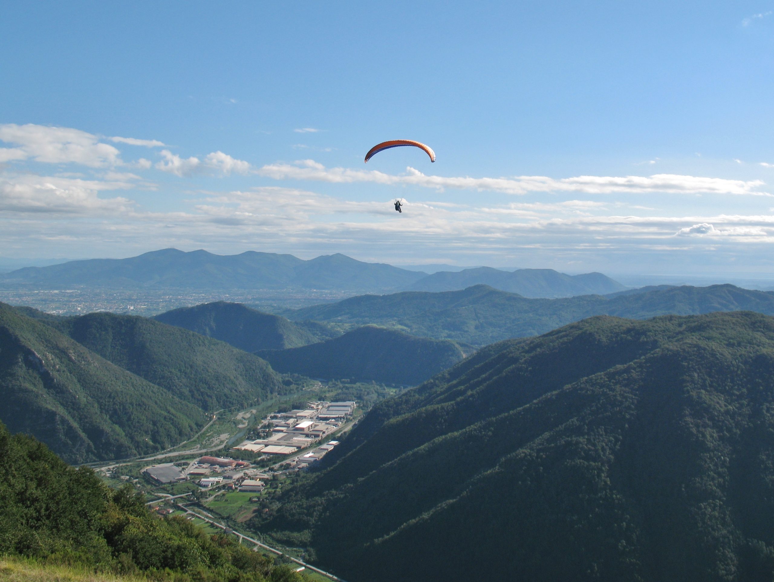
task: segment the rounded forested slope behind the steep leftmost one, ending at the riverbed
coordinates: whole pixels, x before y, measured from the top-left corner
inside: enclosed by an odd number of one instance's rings
[[[282,378],[257,356],[146,317],[90,313],[57,326],[115,365],[205,411],[247,406],[283,390]]]

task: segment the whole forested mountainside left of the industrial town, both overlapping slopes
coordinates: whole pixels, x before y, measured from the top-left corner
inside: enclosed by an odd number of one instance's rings
[[[287,390],[261,358],[179,327],[5,303],[0,387],[0,421],[70,463],[163,450],[194,436],[205,412]]]

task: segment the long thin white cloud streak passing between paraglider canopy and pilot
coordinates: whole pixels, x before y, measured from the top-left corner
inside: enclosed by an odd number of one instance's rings
[[[409,184],[444,190],[492,190],[509,194],[529,192],[582,193],[721,193],[770,196],[759,190],[762,180],[725,180],[701,176],[654,174],[652,176],[575,176],[556,180],[546,176],[515,176],[504,178],[471,178],[469,176],[426,176],[414,168],[396,176],[378,170],[326,168],[312,159],[295,164],[275,163],[255,170],[261,176],[275,180],[316,180],[330,183],[372,182]]]

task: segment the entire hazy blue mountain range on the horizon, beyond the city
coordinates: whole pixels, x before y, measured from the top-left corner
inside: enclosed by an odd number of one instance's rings
[[[454,270],[454,267],[450,269]],[[446,291],[478,284],[528,297],[605,294],[625,289],[601,273],[570,276],[552,269],[507,272],[478,267],[460,272],[435,272],[428,276],[426,272],[361,262],[344,255],[323,255],[304,261],[293,255],[266,252],[214,255],[207,251],[183,252],[175,248],[146,252],[132,258],[94,258],[0,274],[0,286],[6,289],[91,286],[103,289],[314,289],[391,293],[406,289]]]

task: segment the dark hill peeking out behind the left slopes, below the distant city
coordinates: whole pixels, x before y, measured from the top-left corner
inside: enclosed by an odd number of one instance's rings
[[[295,324],[284,317],[225,301],[180,307],[154,319],[214,337],[245,351],[282,350],[313,344],[335,335],[319,324]]]

